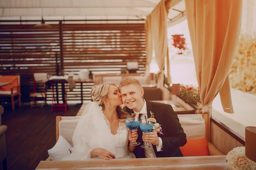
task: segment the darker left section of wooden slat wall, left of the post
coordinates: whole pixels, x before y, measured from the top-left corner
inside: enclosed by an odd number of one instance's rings
[[[33,25],[0,26],[0,74],[20,75],[22,101],[30,101],[33,73],[56,74],[60,54],[59,26],[34,28]],[[39,85],[38,91],[43,90]]]

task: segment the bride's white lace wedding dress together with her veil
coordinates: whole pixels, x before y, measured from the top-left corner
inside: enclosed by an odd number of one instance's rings
[[[96,102],[90,102],[74,131],[72,153],[62,160],[92,159],[91,152],[96,148],[108,150],[115,155],[115,159],[136,158],[134,153],[128,150],[128,137],[129,131],[125,122],[119,122],[117,133],[113,135],[102,108]]]

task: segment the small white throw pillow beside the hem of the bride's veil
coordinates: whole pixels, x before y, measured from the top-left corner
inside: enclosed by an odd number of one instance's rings
[[[57,143],[55,144],[55,146],[52,147],[52,149],[48,150],[48,154],[49,154],[50,158],[52,159],[52,161],[60,161],[65,156],[70,154],[69,149],[71,149],[71,148],[72,148],[72,146],[67,142],[67,140],[64,139],[64,137],[59,136],[59,139],[58,139]]]

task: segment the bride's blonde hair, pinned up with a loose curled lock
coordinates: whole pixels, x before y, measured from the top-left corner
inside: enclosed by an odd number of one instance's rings
[[[96,88],[94,88],[92,91],[92,100],[93,102],[96,102],[99,106],[102,107],[102,111],[104,111],[105,109],[104,101],[108,97],[108,91],[109,91],[110,85],[116,86],[113,83],[105,82],[97,86]],[[117,113],[118,119],[122,121],[126,118],[126,116],[129,116],[129,113],[126,113],[125,111],[123,111],[121,106],[116,107],[116,113]]]

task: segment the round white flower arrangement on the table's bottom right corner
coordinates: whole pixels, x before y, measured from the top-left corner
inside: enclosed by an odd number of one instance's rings
[[[236,147],[226,156],[228,170],[256,170],[256,163],[245,156],[245,147]]]

